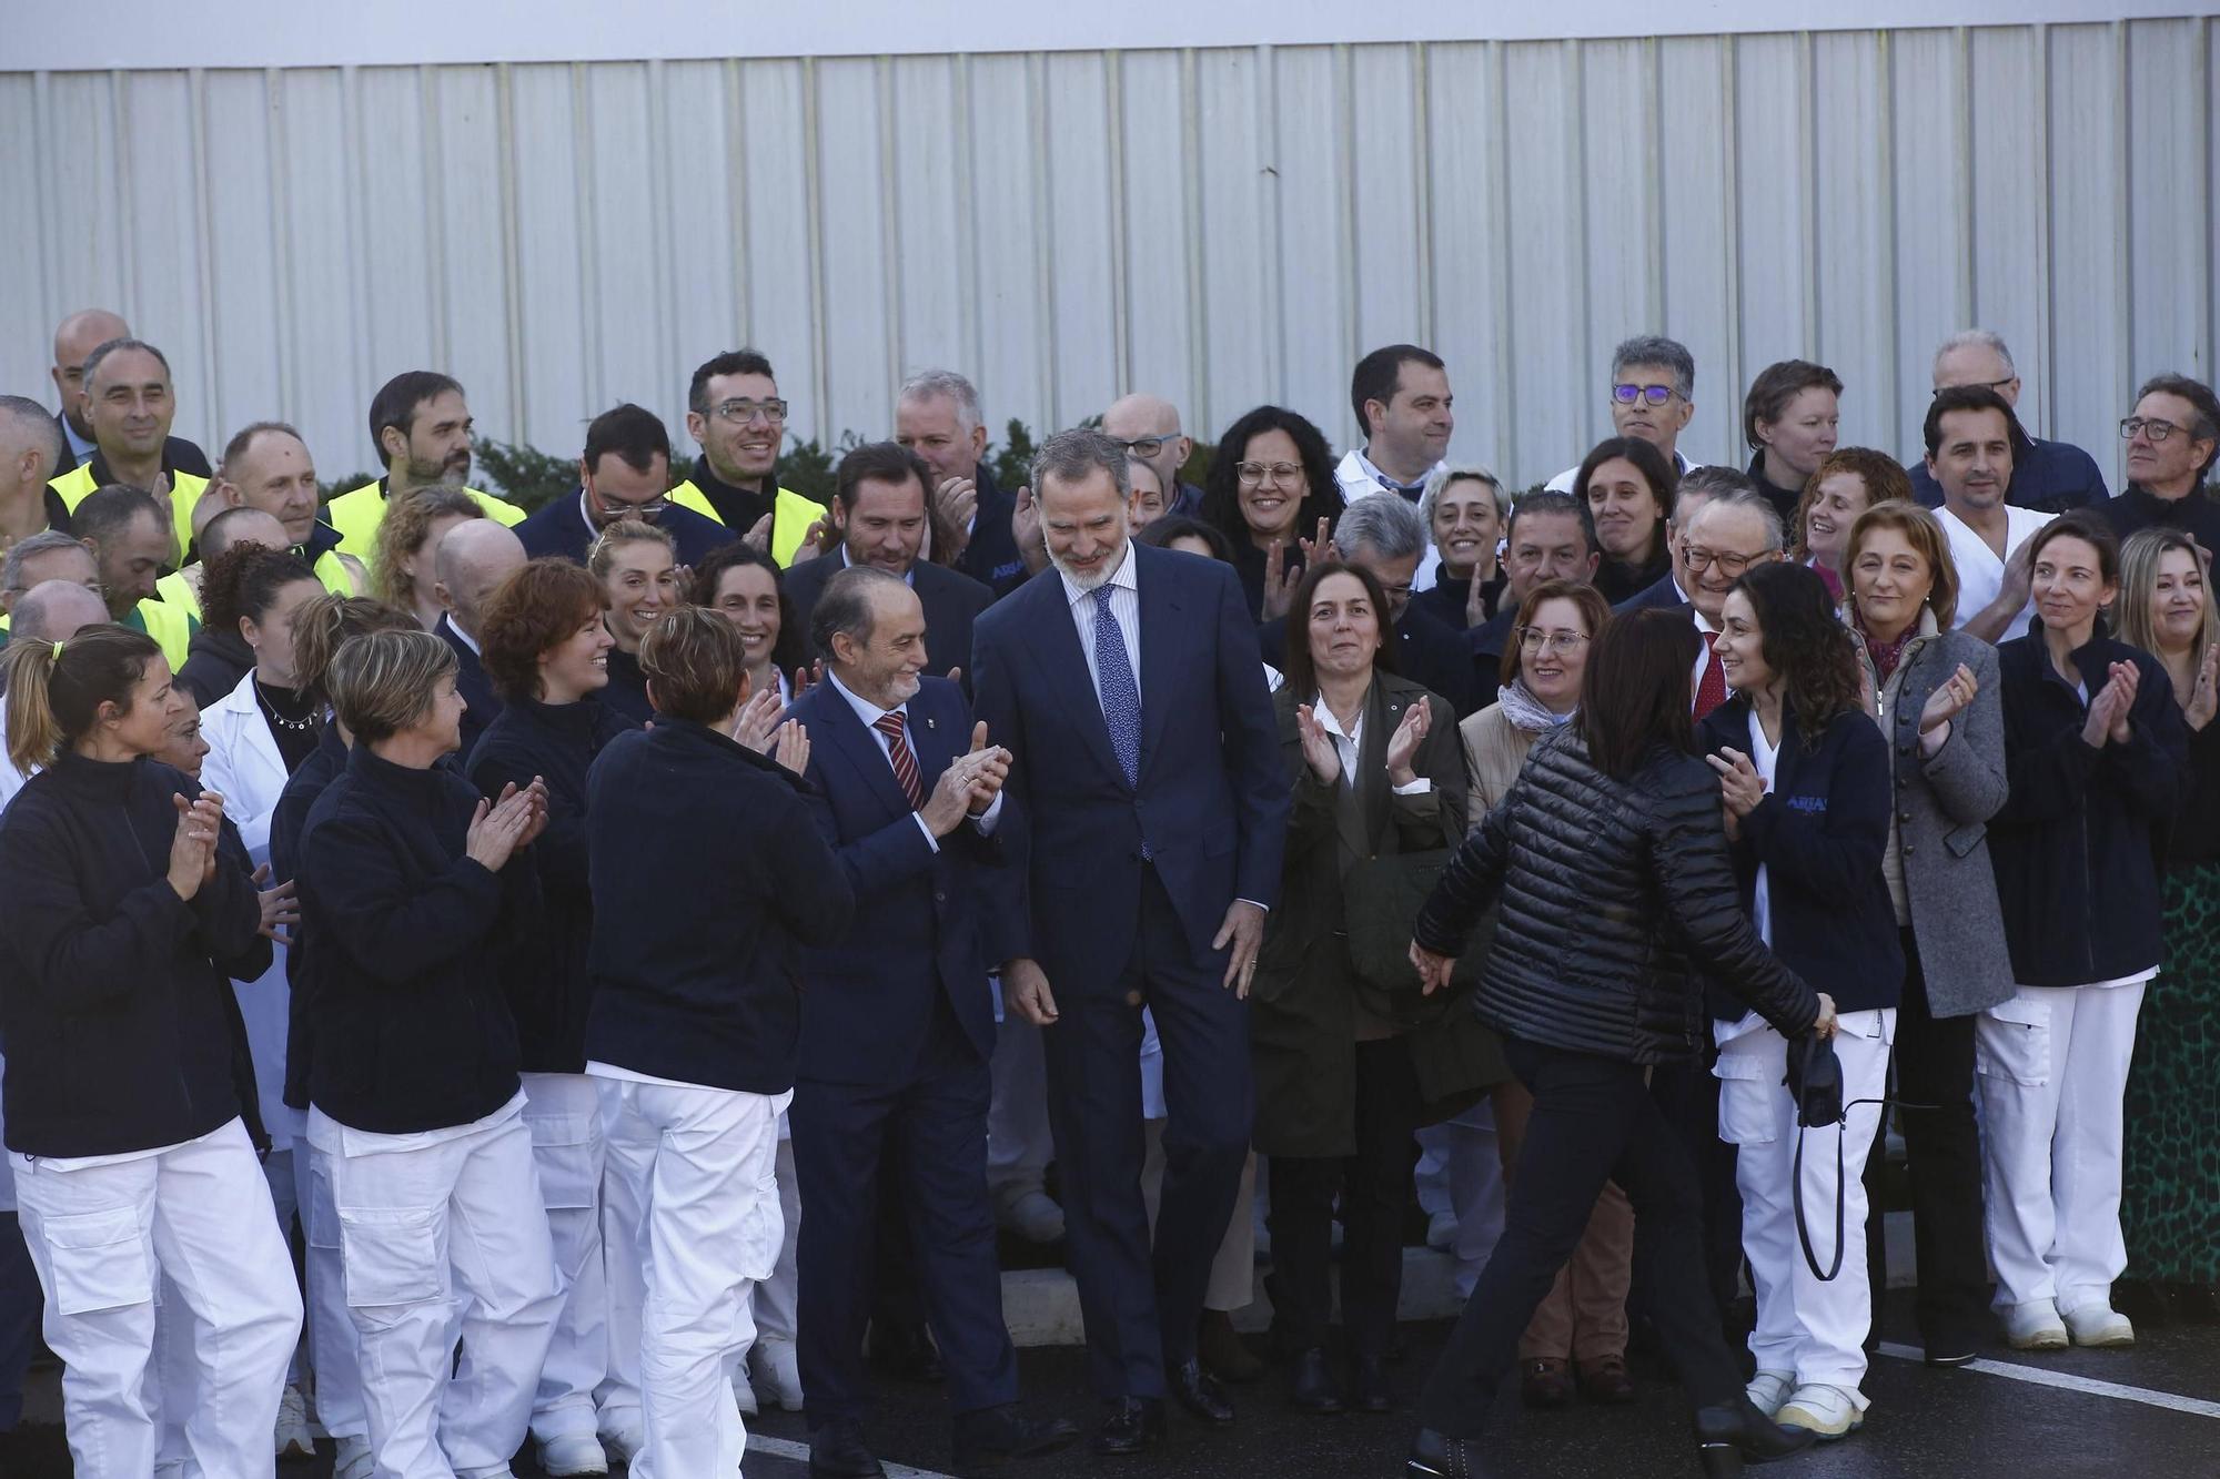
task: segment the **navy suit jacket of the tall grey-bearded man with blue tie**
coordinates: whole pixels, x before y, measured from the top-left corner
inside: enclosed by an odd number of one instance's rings
[[[1230,566],[1132,546],[1141,608],[1141,764],[1110,748],[1063,577],[1041,571],[979,617],[972,693],[1010,746],[1001,842],[1019,868],[1006,957],[1052,986],[1108,988],[1126,966],[1141,871],[1179,910],[1197,959],[1234,899],[1279,899],[1288,775],[1257,620]],[[1143,862],[1143,846],[1150,862]]]

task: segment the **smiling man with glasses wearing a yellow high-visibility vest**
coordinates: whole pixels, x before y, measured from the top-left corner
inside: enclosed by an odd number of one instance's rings
[[[670,502],[717,520],[781,566],[821,555],[833,529],[826,506],[779,486],[786,402],[770,360],[730,349],[695,371],[686,389],[686,433],[702,444],[693,475]]]

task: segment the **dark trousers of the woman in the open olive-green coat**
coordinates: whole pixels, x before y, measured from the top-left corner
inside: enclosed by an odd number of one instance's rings
[[[1285,1344],[1325,1344],[1332,1315],[1328,1264],[1334,1197],[1341,1197],[1341,1324],[1350,1355],[1383,1357],[1394,1346],[1403,1295],[1403,1206],[1419,1164],[1419,1073],[1410,1039],[1356,1044],[1356,1155],[1272,1157],[1272,1288]]]

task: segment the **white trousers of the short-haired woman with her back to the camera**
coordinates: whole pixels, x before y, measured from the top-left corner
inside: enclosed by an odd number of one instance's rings
[[[750,1095],[602,1079],[613,1206],[639,1210],[646,1299],[633,1479],[730,1475],[748,1435],[733,1375],[755,1341],[750,1295],[779,1259],[779,1113]]]

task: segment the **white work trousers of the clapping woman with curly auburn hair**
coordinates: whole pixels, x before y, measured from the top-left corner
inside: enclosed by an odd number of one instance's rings
[[[608,1284],[602,1275],[602,1093],[584,1073],[526,1073],[524,1124],[533,1133],[539,1199],[548,1210],[562,1312],[539,1390],[533,1437],[542,1443],[595,1435],[593,1392],[608,1368]]]

